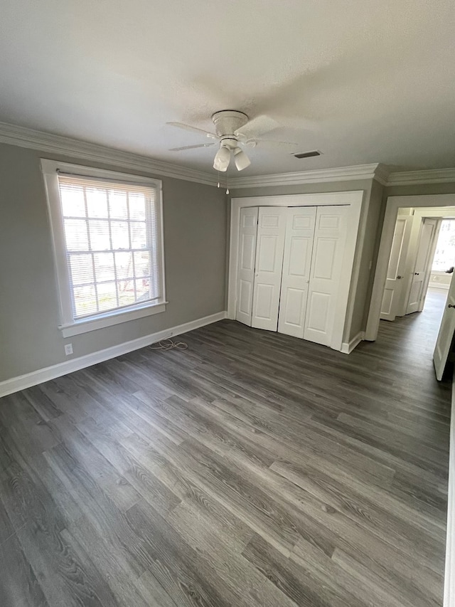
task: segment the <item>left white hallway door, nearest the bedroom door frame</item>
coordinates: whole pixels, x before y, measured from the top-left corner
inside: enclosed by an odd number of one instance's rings
[[[397,316],[403,288],[402,279],[405,274],[411,228],[412,215],[399,215],[397,217],[392,250],[390,250],[389,267],[387,268],[387,280],[385,281],[384,294],[382,295],[380,314],[382,320],[395,320]]]

